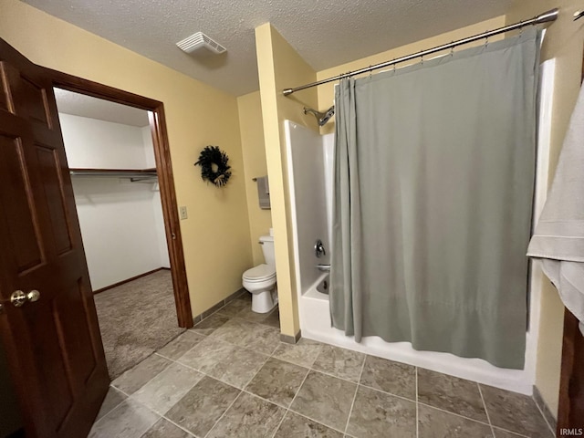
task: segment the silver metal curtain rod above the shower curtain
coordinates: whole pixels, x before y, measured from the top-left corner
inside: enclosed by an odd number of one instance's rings
[[[301,89],[310,89],[312,87],[317,87],[318,85],[327,84],[328,82],[333,82],[335,80],[339,80],[342,78],[349,78],[351,76],[360,75],[361,73],[367,73],[367,72],[372,71],[372,70],[377,70],[378,68],[390,67],[394,64],[399,64],[400,62],[409,61],[410,59],[414,59],[416,57],[425,57],[426,55],[431,55],[433,53],[440,52],[442,50],[446,50],[447,48],[462,46],[464,44],[472,43],[473,41],[477,41],[479,39],[485,39],[485,38],[488,38],[489,36],[504,34],[505,32],[519,29],[521,27],[531,26],[531,25],[540,25],[542,23],[547,23],[549,21],[556,21],[556,18],[558,18],[558,8],[557,7],[554,9],[551,9],[547,12],[544,12],[543,14],[539,14],[538,16],[534,16],[533,18],[531,18],[529,20],[520,21],[514,25],[499,27],[498,29],[495,29],[495,30],[488,30],[482,34],[478,34],[475,36],[468,36],[466,38],[459,39],[457,41],[453,41],[452,43],[443,44],[442,46],[429,48],[427,50],[422,50],[420,52],[416,52],[416,53],[413,53],[412,55],[407,55],[405,57],[398,57],[396,59],[392,59],[391,61],[381,62],[380,64],[375,64],[374,66],[360,68],[359,70],[355,70],[355,71],[349,71],[347,73],[343,73],[341,75],[337,75],[337,76],[334,76],[332,78],[318,80],[317,82],[312,82],[312,83],[307,84],[307,85],[301,85],[300,87],[296,87],[294,89],[284,89],[284,90],[282,90],[282,93],[284,94],[284,96],[289,96],[292,93],[300,91]]]

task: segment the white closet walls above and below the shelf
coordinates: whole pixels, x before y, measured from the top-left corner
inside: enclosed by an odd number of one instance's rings
[[[155,167],[150,127],[59,114],[70,168]],[[73,176],[93,290],[170,267],[158,183]]]

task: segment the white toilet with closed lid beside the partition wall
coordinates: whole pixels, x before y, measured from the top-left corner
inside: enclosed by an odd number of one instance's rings
[[[277,304],[274,237],[262,235],[259,243],[262,245],[266,263],[247,269],[242,280],[245,290],[252,294],[252,310],[256,313],[267,313]]]

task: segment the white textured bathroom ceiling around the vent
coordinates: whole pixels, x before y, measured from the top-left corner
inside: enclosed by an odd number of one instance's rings
[[[258,89],[254,28],[266,22],[321,70],[506,13],[512,0],[25,0],[52,16],[236,96]],[[485,29],[488,30],[488,29]],[[223,55],[187,55],[202,31]],[[294,87],[301,84],[290,84]]]

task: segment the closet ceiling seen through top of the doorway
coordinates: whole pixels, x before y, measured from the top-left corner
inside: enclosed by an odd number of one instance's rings
[[[90,119],[113,121],[130,126],[148,126],[148,111],[120,105],[110,100],[92,98],[66,89],[55,89],[58,112]]]

